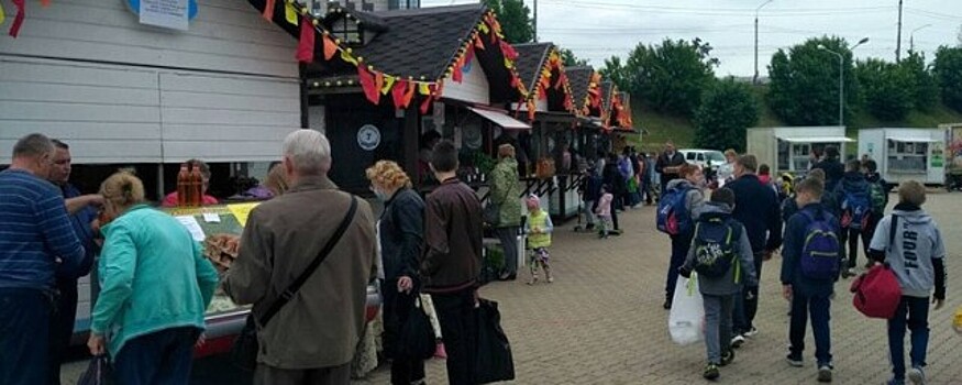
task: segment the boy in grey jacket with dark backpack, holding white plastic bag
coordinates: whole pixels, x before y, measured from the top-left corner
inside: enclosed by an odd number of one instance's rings
[[[719,377],[718,367],[734,360],[731,346],[731,312],[743,283],[756,284],[752,244],[744,227],[731,218],[734,193],[719,188],[703,206],[695,235],[679,274],[698,273],[698,290],[705,307],[705,348],[708,365],[703,376]]]

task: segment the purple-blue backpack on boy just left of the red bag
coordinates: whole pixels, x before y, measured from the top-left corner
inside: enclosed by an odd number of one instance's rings
[[[819,218],[809,210],[801,213],[809,220],[801,245],[801,274],[810,279],[834,279],[842,262],[834,218],[826,212]]]

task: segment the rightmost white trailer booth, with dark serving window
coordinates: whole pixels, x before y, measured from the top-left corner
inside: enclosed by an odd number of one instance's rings
[[[878,164],[889,184],[917,180],[946,184],[946,130],[865,129],[859,131],[859,154]]]

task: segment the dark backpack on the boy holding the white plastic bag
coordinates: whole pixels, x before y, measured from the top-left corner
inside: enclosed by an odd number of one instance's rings
[[[711,218],[695,226],[695,271],[705,277],[725,276],[734,265],[734,282],[739,282],[741,266],[734,252],[734,242],[741,238],[739,227],[731,220]]]

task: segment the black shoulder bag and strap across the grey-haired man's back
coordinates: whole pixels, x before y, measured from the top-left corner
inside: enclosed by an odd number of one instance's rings
[[[257,323],[261,327],[266,327],[267,322],[270,321],[274,316],[280,311],[280,308],[284,305],[287,305],[291,299],[294,299],[297,290],[300,289],[301,286],[310,278],[310,276],[318,270],[318,266],[321,265],[322,262],[331,254],[331,250],[334,249],[334,245],[341,240],[341,237],[344,235],[344,231],[347,230],[347,226],[351,224],[354,219],[354,213],[357,211],[357,198],[351,196],[351,208],[347,209],[347,213],[344,215],[344,219],[341,220],[341,224],[338,226],[338,229],[334,231],[334,234],[328,240],[328,243],[324,244],[324,248],[318,253],[318,256],[311,261],[311,264],[305,268],[303,273],[301,273],[297,279],[295,279],[287,288],[280,293],[277,299],[274,300],[270,306],[267,307],[267,310],[264,311],[264,315],[261,316],[259,322],[257,322],[256,316],[254,311],[251,311],[247,315],[247,320],[244,323],[244,328],[241,329],[241,333],[237,334],[237,338],[234,339],[234,344],[231,348],[231,359],[234,362],[234,365],[247,370],[254,371],[257,367],[257,353],[261,351],[261,344],[257,341]]]

